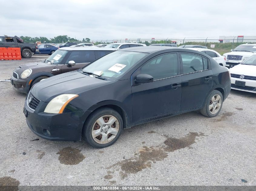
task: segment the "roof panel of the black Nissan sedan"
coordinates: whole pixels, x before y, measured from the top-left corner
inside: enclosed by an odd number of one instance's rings
[[[171,47],[171,46],[137,46],[137,47],[120,49],[118,51],[153,53],[155,51],[162,50],[162,49],[175,49],[176,51],[178,51],[177,47]],[[180,49],[180,51],[181,50],[183,51],[184,49]]]

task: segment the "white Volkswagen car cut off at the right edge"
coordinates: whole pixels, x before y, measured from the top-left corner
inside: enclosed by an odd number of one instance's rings
[[[256,55],[229,69],[231,89],[256,93]]]

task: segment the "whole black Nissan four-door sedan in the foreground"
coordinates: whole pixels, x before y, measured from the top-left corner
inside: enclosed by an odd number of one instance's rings
[[[38,82],[24,113],[42,138],[79,141],[83,136],[102,148],[138,124],[194,110],[214,117],[230,89],[228,69],[204,53],[142,46]]]

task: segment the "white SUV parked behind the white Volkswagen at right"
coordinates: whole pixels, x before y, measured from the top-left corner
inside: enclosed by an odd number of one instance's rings
[[[254,54],[256,54],[256,44],[241,44],[223,56],[226,59],[226,67],[232,68]]]

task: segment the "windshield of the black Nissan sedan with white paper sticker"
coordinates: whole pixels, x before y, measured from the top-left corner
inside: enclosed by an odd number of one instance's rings
[[[148,53],[115,51],[92,62],[82,69],[83,72],[91,72],[107,79],[118,78],[130,69],[136,62]]]

